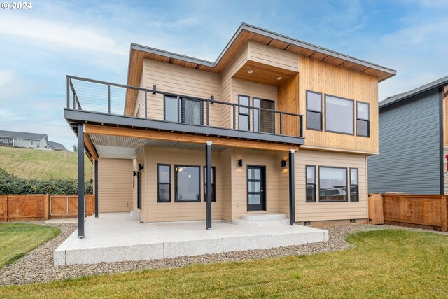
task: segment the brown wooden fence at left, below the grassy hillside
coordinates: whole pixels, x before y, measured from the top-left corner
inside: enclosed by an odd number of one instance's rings
[[[95,212],[94,195],[85,195],[85,216]],[[0,221],[76,218],[78,195],[0,195]]]

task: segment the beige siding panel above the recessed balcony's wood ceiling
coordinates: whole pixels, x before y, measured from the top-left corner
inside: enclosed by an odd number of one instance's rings
[[[255,41],[248,42],[248,50],[248,60],[290,71],[299,71],[298,56],[295,53],[266,46]]]

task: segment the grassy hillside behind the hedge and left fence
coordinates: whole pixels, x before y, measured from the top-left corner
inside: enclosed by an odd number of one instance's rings
[[[85,180],[93,165],[85,156]],[[0,168],[24,179],[78,179],[78,153],[0,146]]]

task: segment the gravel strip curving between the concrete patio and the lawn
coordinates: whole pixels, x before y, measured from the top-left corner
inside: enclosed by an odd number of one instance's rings
[[[186,256],[167,258],[163,260],[126,261],[120,263],[99,263],[95,265],[53,265],[53,251],[76,230],[76,224],[45,224],[43,221],[29,221],[39,225],[55,226],[62,230],[55,239],[39,246],[0,270],[0,285],[29,284],[66,278],[83,277],[86,275],[111,274],[136,270],[183,267],[200,263],[230,262],[237,260],[255,260],[261,258],[279,258],[282,256],[300,256],[319,252],[349,249],[351,244],[345,241],[347,235],[371,229],[399,229],[433,232],[419,228],[404,228],[394,225],[344,225],[323,228],[328,230],[328,242],[317,242],[299,246],[287,246],[274,249],[259,249],[251,251],[235,251],[230,253],[206,254],[202,256]],[[435,232],[443,233],[446,232]]]

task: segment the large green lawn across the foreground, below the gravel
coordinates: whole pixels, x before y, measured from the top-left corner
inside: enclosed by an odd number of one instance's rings
[[[447,298],[448,237],[372,230],[346,251],[6,286],[2,298]]]

